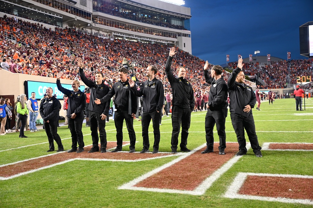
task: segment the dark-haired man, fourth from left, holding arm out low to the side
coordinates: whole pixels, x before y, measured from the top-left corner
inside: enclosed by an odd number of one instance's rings
[[[114,103],[116,110],[114,115],[114,123],[116,128],[117,147],[111,152],[122,151],[124,119],[130,140],[129,152],[135,152],[136,134],[133,127],[133,122],[138,108],[138,97],[134,95],[130,88],[127,74],[127,68],[119,68],[118,76],[120,81],[113,84],[112,89],[110,89],[106,96],[104,96],[102,99],[96,99],[95,101],[96,104],[105,103],[110,100],[113,95],[115,95]]]

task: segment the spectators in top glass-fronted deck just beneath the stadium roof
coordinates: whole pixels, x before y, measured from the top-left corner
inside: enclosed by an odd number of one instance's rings
[[[99,11],[102,13],[106,13],[106,14],[110,14],[110,15],[114,15],[114,16],[121,17],[121,18],[134,20],[134,21],[141,22],[141,23],[147,23],[147,24],[157,25],[157,26],[166,27],[166,28],[186,30],[186,28],[184,28],[184,26],[166,23],[166,22],[162,22],[160,20],[155,20],[148,15],[147,15],[147,17],[141,17],[140,18],[138,15],[134,15],[132,13],[128,13],[128,12],[124,12],[124,11],[119,12],[119,11],[116,11],[116,9],[108,8],[105,5],[102,5],[102,6],[93,5],[93,10],[96,10],[96,11]]]

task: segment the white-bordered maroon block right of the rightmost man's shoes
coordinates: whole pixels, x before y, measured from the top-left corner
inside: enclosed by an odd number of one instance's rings
[[[300,149],[302,148],[302,149]],[[313,143],[279,143],[279,142],[264,142],[262,150],[275,151],[313,151]]]

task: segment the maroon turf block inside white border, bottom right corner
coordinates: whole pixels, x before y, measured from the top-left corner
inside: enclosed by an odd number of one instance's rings
[[[248,175],[238,194],[313,200],[312,178]]]

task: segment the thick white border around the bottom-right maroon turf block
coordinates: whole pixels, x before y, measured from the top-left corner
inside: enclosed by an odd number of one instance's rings
[[[250,200],[261,200],[261,201],[274,201],[274,202],[284,202],[284,203],[300,203],[313,205],[312,200],[308,199],[290,199],[290,198],[281,198],[281,197],[265,197],[265,196],[253,196],[253,195],[243,195],[238,194],[238,191],[243,186],[243,183],[247,179],[248,175],[257,175],[257,176],[268,176],[268,177],[288,177],[288,178],[313,178],[310,175],[287,175],[287,174],[265,174],[265,173],[238,173],[234,178],[232,184],[228,187],[224,197],[231,199],[250,199]]]

